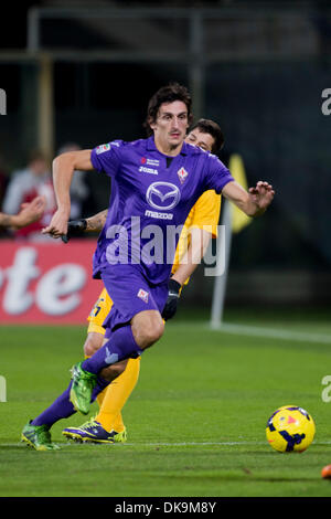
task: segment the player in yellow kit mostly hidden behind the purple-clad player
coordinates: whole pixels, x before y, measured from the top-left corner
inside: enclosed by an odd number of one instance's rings
[[[186,142],[200,146],[206,151],[217,152],[224,138],[218,125],[207,119],[200,119],[186,136]],[[189,282],[190,275],[201,263],[211,237],[217,235],[221,195],[215,191],[205,191],[191,209],[178,243],[172,267],[173,293],[168,296],[163,318],[173,317],[181,287]],[[75,230],[102,231],[107,211],[90,219],[77,221]],[[83,222],[83,223],[82,223]],[[70,225],[71,229],[71,225]],[[196,239],[196,240],[195,240]],[[84,345],[84,353],[90,357],[104,342],[103,322],[110,311],[113,301],[104,288],[88,317],[89,326]],[[116,366],[116,364],[115,364]],[[98,414],[79,427],[67,427],[63,434],[73,439],[94,443],[125,442],[127,432],[121,410],[131,394],[140,371],[140,357],[129,359],[125,371],[98,395]]]

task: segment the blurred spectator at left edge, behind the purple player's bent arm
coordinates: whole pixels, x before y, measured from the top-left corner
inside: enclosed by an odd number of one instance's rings
[[[50,223],[56,210],[50,167],[41,151],[33,151],[26,168],[13,173],[7,188],[2,211],[8,214],[17,214],[21,204],[31,202],[39,195],[45,199],[45,210],[42,218],[38,222],[15,231],[15,237],[44,239],[40,231]]]

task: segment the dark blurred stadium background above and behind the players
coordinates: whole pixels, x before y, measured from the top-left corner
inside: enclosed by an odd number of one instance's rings
[[[178,81],[191,89],[195,119],[223,128],[221,159],[239,153],[248,184],[268,180],[277,192],[268,213],[233,236],[227,307],[330,306],[331,116],[321,110],[331,87],[330,2],[50,0],[6,13],[2,197],[33,149],[51,160],[65,142],[145,137],[150,95]],[[86,182],[85,216],[109,198],[107,178]],[[10,258],[0,256],[2,304]],[[210,308],[213,283],[200,267],[189,309]]]

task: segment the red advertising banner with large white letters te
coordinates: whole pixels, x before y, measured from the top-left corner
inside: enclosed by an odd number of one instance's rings
[[[0,322],[87,324],[102,292],[92,278],[95,240],[0,241]]]

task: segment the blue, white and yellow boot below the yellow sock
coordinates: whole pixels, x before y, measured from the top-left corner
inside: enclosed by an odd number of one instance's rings
[[[79,427],[66,427],[62,431],[62,434],[77,442],[125,443],[127,441],[126,428],[120,433],[116,431],[108,433],[95,417],[88,420],[88,422],[85,422]]]

